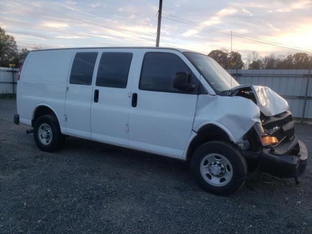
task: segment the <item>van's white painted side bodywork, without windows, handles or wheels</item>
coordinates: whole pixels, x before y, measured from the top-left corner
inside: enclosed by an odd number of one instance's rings
[[[92,85],[69,83],[77,52],[98,52]],[[96,86],[103,52],[133,54],[125,89]],[[142,62],[147,52],[177,55],[208,94],[140,90]],[[216,96],[181,52],[160,48],[77,48],[30,52],[18,81],[20,122],[31,125],[36,109],[47,106],[58,117],[63,134],[180,159],[186,159],[187,149],[196,132],[206,124],[215,124],[232,141],[240,142],[242,136],[259,121],[259,108],[246,98]],[[99,90],[97,103],[94,102],[95,90]],[[138,95],[137,107],[131,106],[133,93]]]

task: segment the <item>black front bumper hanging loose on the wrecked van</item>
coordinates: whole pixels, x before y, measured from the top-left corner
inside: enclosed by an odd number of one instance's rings
[[[293,154],[293,152],[295,153]],[[307,161],[307,147],[298,140],[289,154],[273,155],[270,153],[270,149],[263,150],[259,166],[262,172],[267,172],[273,176],[298,178],[304,173]]]

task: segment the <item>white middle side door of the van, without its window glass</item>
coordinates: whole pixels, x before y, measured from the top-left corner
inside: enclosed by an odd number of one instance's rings
[[[133,49],[104,49],[99,50],[99,59],[96,64],[95,74],[98,73],[98,64],[102,53],[131,53],[128,82],[126,88],[111,88],[97,86],[93,82],[93,94],[98,90],[98,102],[92,101],[91,105],[91,138],[107,143],[128,146],[128,120],[131,106],[132,80],[140,67],[138,63],[139,51]]]

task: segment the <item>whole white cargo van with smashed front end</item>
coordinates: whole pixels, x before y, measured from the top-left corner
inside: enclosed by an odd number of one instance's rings
[[[239,85],[196,52],[32,51],[17,88],[14,122],[33,127],[43,151],[75,136],[190,159],[199,184],[217,195],[260,171],[298,181],[307,165],[287,101],[267,87]]]

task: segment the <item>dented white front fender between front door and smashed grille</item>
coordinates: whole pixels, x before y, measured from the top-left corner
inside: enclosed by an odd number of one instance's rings
[[[243,97],[199,95],[193,129],[214,124],[225,131],[234,143],[260,123],[260,110],[250,99]]]

